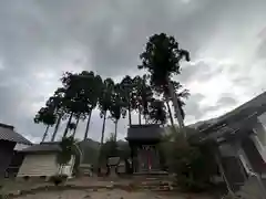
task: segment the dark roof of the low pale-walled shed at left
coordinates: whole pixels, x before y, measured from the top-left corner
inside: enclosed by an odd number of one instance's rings
[[[44,153],[44,151],[60,151],[59,143],[41,143],[31,147],[24,148],[23,153]]]

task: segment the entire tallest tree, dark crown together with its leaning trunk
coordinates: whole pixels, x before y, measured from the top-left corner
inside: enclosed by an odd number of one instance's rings
[[[183,119],[185,116],[182,105],[184,102],[181,96],[175,96],[176,90],[178,90],[178,83],[171,78],[175,74],[181,73],[180,62],[185,57],[190,61],[190,53],[183,49],[180,49],[178,43],[173,36],[168,36],[165,33],[152,35],[145,46],[145,51],[140,55],[142,64],[139,69],[144,69],[149,72],[150,84],[160,95],[164,95],[166,101],[172,100],[175,111],[181,112],[177,119],[180,126],[184,126]],[[171,82],[173,83],[173,91],[171,91]],[[171,117],[173,123],[173,118]],[[173,125],[173,124],[172,124]]]

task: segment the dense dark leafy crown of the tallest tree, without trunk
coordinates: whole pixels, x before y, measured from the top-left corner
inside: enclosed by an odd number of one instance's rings
[[[154,34],[149,39],[145,51],[140,55],[142,65],[151,74],[151,85],[162,86],[168,84],[168,77],[180,74],[180,61],[185,57],[190,61],[190,53],[180,49],[173,36],[165,33]]]

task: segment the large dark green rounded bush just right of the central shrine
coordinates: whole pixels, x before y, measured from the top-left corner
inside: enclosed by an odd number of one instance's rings
[[[193,135],[194,129],[186,129]],[[172,129],[174,135],[166,135],[161,144],[164,151],[164,163],[176,175],[176,181],[185,190],[201,191],[211,185],[211,178],[216,174],[214,157],[206,145],[191,143],[190,137]]]

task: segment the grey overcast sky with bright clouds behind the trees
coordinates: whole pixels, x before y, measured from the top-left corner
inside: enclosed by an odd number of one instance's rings
[[[44,127],[32,118],[63,71],[135,75],[147,36],[161,32],[191,52],[176,77],[192,94],[186,123],[218,116],[266,88],[265,8],[265,0],[0,0],[0,122],[39,142]],[[95,111],[90,137],[99,140],[101,127]],[[106,135],[113,129],[109,121]]]

